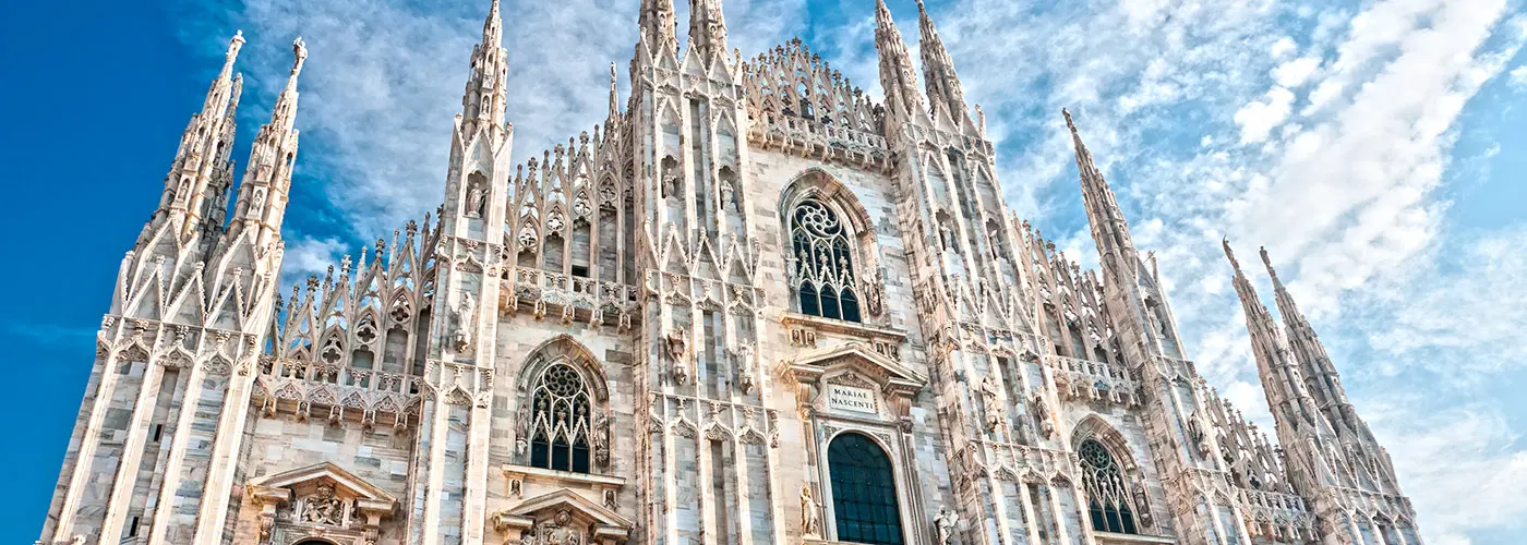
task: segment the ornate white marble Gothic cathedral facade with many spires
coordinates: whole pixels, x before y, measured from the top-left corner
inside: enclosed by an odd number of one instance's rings
[[[1277,446],[1186,359],[1070,114],[1101,270],[1005,206],[919,9],[876,102],[721,0],[643,0],[623,101],[512,163],[496,0],[443,205],[289,295],[286,89],[234,183],[235,35],[121,263],[38,543],[1420,543],[1267,263]]]

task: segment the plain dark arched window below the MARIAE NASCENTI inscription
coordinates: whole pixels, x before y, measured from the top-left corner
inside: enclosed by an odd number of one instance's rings
[[[832,513],[840,542],[901,545],[896,478],[875,441],[843,434],[828,446]]]

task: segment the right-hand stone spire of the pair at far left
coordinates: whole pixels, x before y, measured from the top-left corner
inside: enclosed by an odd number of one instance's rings
[[[244,165],[244,180],[238,185],[238,206],[229,235],[241,237],[244,231],[257,234],[255,243],[279,240],[281,220],[286,217],[287,192],[292,189],[292,168],[296,165],[296,78],[307,61],[307,44],[302,38],[292,41],[292,73],[286,89],[276,98],[270,122],[260,127],[255,144],[249,148]]]

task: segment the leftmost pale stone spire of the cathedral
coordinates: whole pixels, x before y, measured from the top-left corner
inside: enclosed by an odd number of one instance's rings
[[[234,75],[234,61],[238,60],[243,46],[243,31],[235,32],[228,41],[223,69],[212,79],[202,102],[202,111],[191,116],[191,124],[180,136],[180,148],[176,151],[169,174],[165,176],[165,192],[150,221],[151,226],[177,217],[183,220],[179,237],[202,229],[200,218],[208,215],[209,186],[228,163],[228,153],[234,147],[232,119],[238,108],[238,95],[243,92],[243,78]]]

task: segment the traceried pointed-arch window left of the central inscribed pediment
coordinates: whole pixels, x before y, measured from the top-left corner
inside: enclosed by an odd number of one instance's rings
[[[531,397],[530,464],[588,473],[591,412],[583,376],[567,363],[548,366]]]

